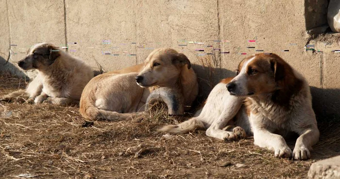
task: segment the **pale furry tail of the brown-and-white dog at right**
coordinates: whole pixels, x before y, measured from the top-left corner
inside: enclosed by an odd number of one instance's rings
[[[196,129],[204,130],[205,126],[198,118],[191,118],[178,125],[166,125],[158,129],[158,132],[168,132],[170,134],[186,134]]]

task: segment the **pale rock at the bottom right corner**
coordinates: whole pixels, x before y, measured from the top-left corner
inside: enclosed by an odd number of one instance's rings
[[[340,156],[317,161],[310,166],[309,179],[340,179]]]

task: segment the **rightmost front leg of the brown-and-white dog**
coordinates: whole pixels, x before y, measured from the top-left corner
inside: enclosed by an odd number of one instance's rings
[[[293,150],[293,159],[305,160],[310,158],[309,150],[319,141],[319,129],[316,125],[308,127],[302,131],[297,131],[300,137],[296,140]]]

